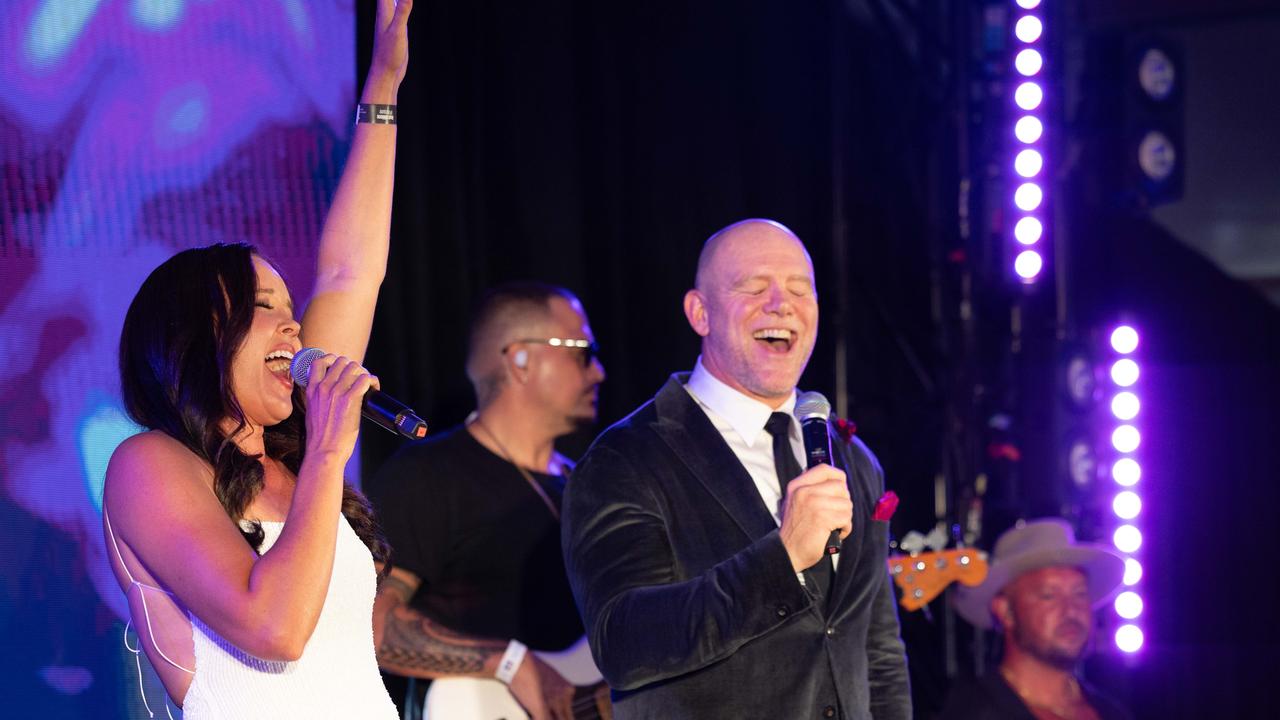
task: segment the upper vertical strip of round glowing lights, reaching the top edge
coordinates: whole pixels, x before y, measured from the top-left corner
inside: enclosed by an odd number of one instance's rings
[[[1034,283],[1044,269],[1044,87],[1037,79],[1044,69],[1041,50],[1044,23],[1032,10],[1041,0],[1015,0],[1014,22],[1014,177],[1012,249],[1014,273],[1025,284]]]

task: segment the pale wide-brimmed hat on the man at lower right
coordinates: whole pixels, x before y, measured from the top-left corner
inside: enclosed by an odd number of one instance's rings
[[[951,603],[961,618],[989,630],[995,625],[991,600],[1023,573],[1053,565],[1084,571],[1093,607],[1111,600],[1124,580],[1123,557],[1101,544],[1075,542],[1075,532],[1061,518],[1042,518],[1005,530],[996,541],[987,579],[956,588]]]

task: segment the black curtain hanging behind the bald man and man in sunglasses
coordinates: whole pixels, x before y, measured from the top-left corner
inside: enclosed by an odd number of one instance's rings
[[[475,299],[511,279],[561,283],[602,345],[600,429],[692,366],[681,299],[703,240],[767,217],[813,255],[823,316],[804,386],[831,395],[838,200],[850,415],[900,493],[932,493],[934,398],[904,348],[934,355],[927,161],[942,119],[891,33],[841,4],[783,1],[420,1],[411,24],[390,272],[369,352],[384,387],[436,428],[461,421]],[[366,434],[366,470],[393,447]],[[931,497],[909,502],[922,523]]]

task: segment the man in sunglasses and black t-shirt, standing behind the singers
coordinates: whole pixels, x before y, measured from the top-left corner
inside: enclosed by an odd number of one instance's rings
[[[479,717],[476,707],[438,703],[463,685],[457,694],[509,692],[535,720],[572,717],[573,685],[527,651],[562,651],[582,635],[559,553],[572,462],[554,442],[595,420],[604,380],[595,350],[570,291],[492,290],[467,352],[476,411],[463,427],[402,448],[371,482],[393,548],[374,614],[385,628],[379,664],[399,676],[449,678],[452,685],[430,689],[431,716]],[[393,697],[404,694],[392,687]]]

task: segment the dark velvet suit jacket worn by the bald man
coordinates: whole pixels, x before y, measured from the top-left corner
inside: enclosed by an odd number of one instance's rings
[[[614,716],[908,720],[876,459],[833,438],[854,532],[815,597],[686,378],[596,438],[566,491],[564,562]]]

